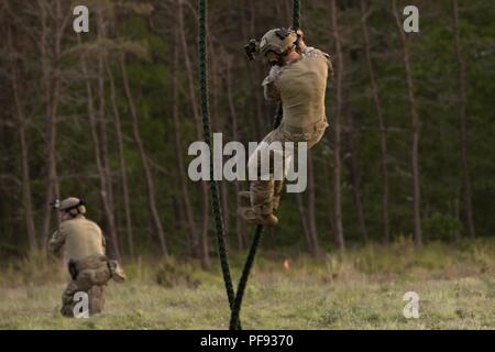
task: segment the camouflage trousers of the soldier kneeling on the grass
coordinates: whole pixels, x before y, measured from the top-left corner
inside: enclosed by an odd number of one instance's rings
[[[90,316],[99,314],[105,308],[105,286],[112,277],[106,256],[91,256],[75,263],[77,274],[73,274],[72,282],[62,295],[61,314],[74,318],[74,308],[78,304],[77,293],[88,296],[88,312]]]

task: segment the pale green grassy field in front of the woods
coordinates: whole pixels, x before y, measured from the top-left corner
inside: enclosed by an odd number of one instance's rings
[[[242,310],[244,329],[495,329],[495,243],[402,241],[327,254],[316,261],[264,253]],[[287,260],[289,268],[284,267]],[[239,277],[242,256],[232,261]],[[40,257],[3,265],[0,329],[227,329],[218,267],[168,261],[125,265],[129,280],[110,283],[102,315],[58,315],[66,276]],[[158,284],[160,283],[160,284]],[[403,315],[406,292],[419,295],[418,319]]]

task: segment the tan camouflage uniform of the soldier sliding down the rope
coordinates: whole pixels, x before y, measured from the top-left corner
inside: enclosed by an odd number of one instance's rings
[[[307,142],[309,150],[321,140],[329,125],[324,112],[329,69],[332,66],[328,54],[314,47],[306,47],[300,58],[288,65],[272,67],[262,84],[265,99],[282,100],[284,114],[280,125],[270,132],[263,142],[282,142],[282,146],[284,142]],[[255,153],[263,147],[265,146],[258,146]],[[284,148],[278,153],[284,153]],[[273,154],[271,156],[270,165],[273,166]],[[285,160],[285,169],[289,162],[290,160]],[[249,167],[260,169],[260,158],[255,158],[254,153],[250,157]],[[283,180],[274,180],[273,174],[270,176],[270,180],[258,179],[250,185],[253,223],[260,216],[273,215],[278,208]],[[245,211],[242,213],[242,209],[240,215],[250,220],[250,215]]]

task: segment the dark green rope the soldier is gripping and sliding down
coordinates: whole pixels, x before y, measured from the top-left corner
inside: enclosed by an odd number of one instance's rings
[[[300,0],[293,1],[293,29],[297,30],[300,25]],[[273,129],[276,129],[280,125],[282,117],[283,117],[282,102],[277,106],[277,111],[275,114],[275,119],[273,122]],[[251,267],[254,263],[254,257],[256,256],[257,246],[261,241],[261,235],[263,233],[263,226],[258,224],[253,235],[253,241],[251,242],[251,249],[248,253],[248,258],[244,264],[244,268],[242,270],[242,276],[239,282],[238,292],[235,295],[235,301],[231,309],[230,316],[230,330],[237,330],[238,322],[240,322],[239,315],[241,312],[242,299],[244,297],[245,286],[248,285],[248,278],[251,273]],[[240,329],[239,329],[240,330]]]

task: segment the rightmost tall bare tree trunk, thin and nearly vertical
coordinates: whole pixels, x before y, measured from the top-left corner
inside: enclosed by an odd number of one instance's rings
[[[463,210],[466,222],[468,235],[471,239],[476,237],[473,217],[473,197],[471,191],[470,154],[469,154],[469,132],[468,119],[465,116],[466,94],[465,94],[465,63],[462,56],[461,35],[459,31],[459,6],[458,0],[453,4],[453,32],[455,36],[455,54],[458,59],[458,101],[459,122],[461,125],[461,157],[462,157],[462,183],[463,183]]]

